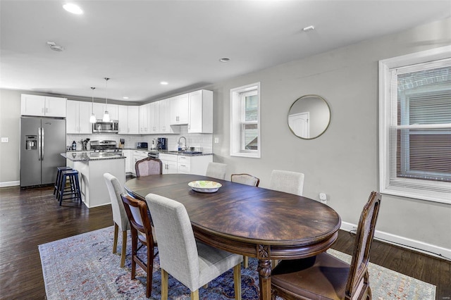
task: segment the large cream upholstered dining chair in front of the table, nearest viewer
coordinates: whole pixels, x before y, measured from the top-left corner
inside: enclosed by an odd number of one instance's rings
[[[146,196],[159,242],[161,299],[168,299],[168,274],[199,299],[199,288],[233,268],[235,299],[241,299],[242,256],[216,249],[194,239],[183,204],[156,194]]]

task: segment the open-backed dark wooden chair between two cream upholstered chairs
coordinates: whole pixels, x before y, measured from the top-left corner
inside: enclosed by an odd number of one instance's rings
[[[121,194],[121,198],[132,232],[132,279],[136,277],[136,264],[138,264],[147,273],[146,296],[149,298],[150,294],[152,294],[152,275],[154,271],[154,257],[156,255],[154,254],[154,248],[158,246],[154,228],[149,218],[149,208],[147,208],[145,201],[137,200],[129,195]],[[147,246],[147,256],[144,259],[137,254],[138,240],[141,244]]]

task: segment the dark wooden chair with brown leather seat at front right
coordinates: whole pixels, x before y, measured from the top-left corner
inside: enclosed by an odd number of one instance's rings
[[[281,261],[271,273],[274,296],[284,299],[371,299],[368,263],[381,194],[371,192],[360,215],[351,264],[323,252]]]

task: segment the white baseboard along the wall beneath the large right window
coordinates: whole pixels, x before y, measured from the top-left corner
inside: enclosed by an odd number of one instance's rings
[[[357,225],[347,222],[341,223],[341,230],[352,231],[357,229]],[[400,237],[399,235],[393,235],[388,232],[382,232],[376,230],[374,234],[374,239],[378,239],[382,242],[388,244],[394,244],[412,251],[417,251],[422,254],[427,254],[437,258],[445,259],[446,261],[451,261],[451,249],[446,249],[440,246],[435,246],[433,244],[427,244],[425,242],[420,242],[415,239],[409,239],[407,237]]]

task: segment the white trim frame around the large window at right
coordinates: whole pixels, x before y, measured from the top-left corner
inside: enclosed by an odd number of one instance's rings
[[[412,180],[409,178],[390,180],[390,113],[388,113],[392,109],[390,107],[390,68],[398,68],[404,65],[414,65],[450,57],[451,46],[444,46],[379,61],[379,185],[382,194],[451,204],[451,192],[443,192],[443,189],[449,188],[449,182],[432,182],[431,184],[428,180]],[[390,185],[390,182],[398,182],[402,186]],[[436,187],[438,190],[415,188],[418,182],[428,183],[431,187]]]

